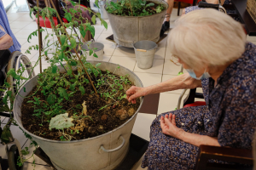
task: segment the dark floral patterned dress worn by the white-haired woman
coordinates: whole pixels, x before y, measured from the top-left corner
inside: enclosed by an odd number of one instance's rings
[[[252,149],[256,125],[256,46],[246,43],[241,58],[218,77],[202,80],[207,105],[187,107],[172,113],[177,127],[189,133],[217,137],[221,146]],[[142,167],[149,170],[194,169],[199,147],[163,134],[160,116],[150,127],[150,142]]]

